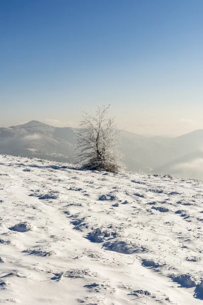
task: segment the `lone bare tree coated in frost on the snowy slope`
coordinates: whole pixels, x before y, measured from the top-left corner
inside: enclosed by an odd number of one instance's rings
[[[83,112],[77,134],[77,158],[91,170],[120,171],[125,166],[120,162],[120,131],[114,118],[108,117],[108,106],[98,106],[96,115]]]

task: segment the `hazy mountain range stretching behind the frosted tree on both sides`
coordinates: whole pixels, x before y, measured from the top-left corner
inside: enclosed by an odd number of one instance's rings
[[[122,131],[120,150],[129,171],[174,173],[180,162],[201,158],[203,130],[179,137],[138,135]],[[32,120],[26,124],[0,128],[0,154],[74,162],[76,139],[70,127],[53,127]],[[197,153],[198,152],[198,153]],[[203,174],[202,174],[203,178]]]

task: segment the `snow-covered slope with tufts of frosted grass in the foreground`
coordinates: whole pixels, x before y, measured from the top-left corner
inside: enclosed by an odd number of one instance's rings
[[[202,187],[0,156],[0,302],[202,304]]]

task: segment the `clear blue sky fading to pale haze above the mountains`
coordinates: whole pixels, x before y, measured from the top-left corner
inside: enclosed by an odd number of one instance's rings
[[[202,0],[0,0],[0,125],[111,104],[133,132],[203,128],[202,16]]]

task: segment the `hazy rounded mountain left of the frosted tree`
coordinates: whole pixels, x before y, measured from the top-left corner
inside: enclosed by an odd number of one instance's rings
[[[0,128],[1,154],[73,162],[74,144],[71,128],[57,128],[35,120]]]

